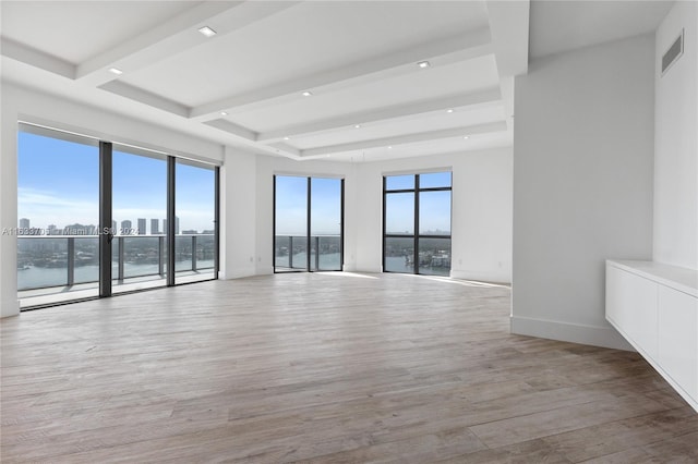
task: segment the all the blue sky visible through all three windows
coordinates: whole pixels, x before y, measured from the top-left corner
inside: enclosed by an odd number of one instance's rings
[[[82,223],[97,225],[99,218],[99,149],[41,135],[19,134],[17,219],[28,218],[31,225]],[[166,162],[115,150],[113,219],[163,219],[166,213]],[[277,233],[306,233],[306,178],[277,176]],[[312,180],[312,234],[338,234],[340,231],[340,185],[338,179]],[[420,175],[422,187],[450,185],[450,173]],[[388,176],[390,188],[413,188],[413,175]],[[398,198],[400,197],[400,198]],[[402,198],[406,197],[406,198]],[[409,198],[407,198],[409,197]],[[412,232],[413,195],[392,194],[388,198],[388,232]],[[450,230],[450,193],[421,193],[421,232]],[[214,228],[214,171],[177,164],[177,217],[180,231]]]

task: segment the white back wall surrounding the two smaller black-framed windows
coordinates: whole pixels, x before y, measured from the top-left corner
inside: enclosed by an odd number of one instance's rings
[[[345,179],[345,267],[382,271],[383,175],[444,169],[454,173],[453,270],[461,279],[510,282],[512,150],[495,149],[385,162],[293,161],[258,156],[256,162],[256,269],[273,272],[273,175]],[[228,198],[231,202],[231,198]]]

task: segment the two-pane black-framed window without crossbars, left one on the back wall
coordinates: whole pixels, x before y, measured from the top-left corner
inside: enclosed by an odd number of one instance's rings
[[[274,270],[342,267],[344,181],[274,176]]]

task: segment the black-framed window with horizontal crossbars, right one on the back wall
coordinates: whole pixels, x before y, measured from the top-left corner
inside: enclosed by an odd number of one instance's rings
[[[383,178],[383,270],[450,273],[450,172]]]

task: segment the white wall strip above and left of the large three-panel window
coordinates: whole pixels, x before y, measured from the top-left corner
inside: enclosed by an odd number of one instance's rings
[[[2,120],[0,154],[0,232],[17,227],[17,121],[73,130],[108,141],[132,143],[146,148],[165,149],[173,154],[193,155],[219,161],[222,147],[191,137],[178,131],[124,118],[99,108],[29,90],[2,82]],[[19,313],[16,293],[16,236],[0,234],[0,316]]]

